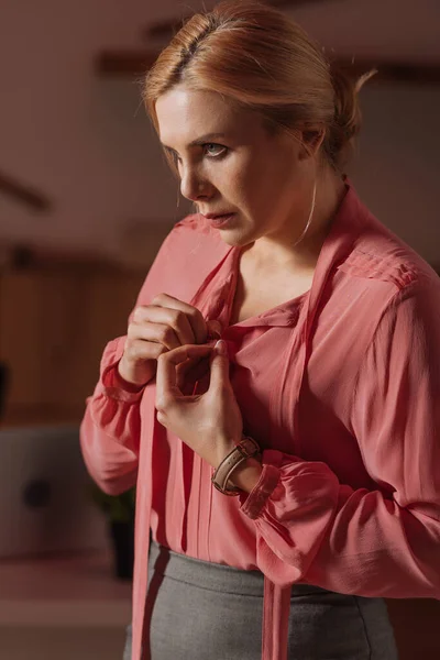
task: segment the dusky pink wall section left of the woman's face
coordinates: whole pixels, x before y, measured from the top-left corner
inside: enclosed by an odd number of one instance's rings
[[[101,80],[92,65],[106,46],[141,44],[157,4],[2,0],[0,170],[40,187],[55,209],[35,217],[0,196],[0,240],[111,251],[125,219],[173,217],[175,184],[139,88]]]

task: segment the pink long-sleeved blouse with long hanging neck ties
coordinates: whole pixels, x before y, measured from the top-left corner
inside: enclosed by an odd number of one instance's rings
[[[121,387],[124,337],[105,350],[81,447],[103,491],[138,486],[133,660],[150,528],[176,552],[263,572],[263,660],[286,658],[294,583],[440,598],[440,279],[346,188],[304,296],[231,326],[240,249],[190,216],[138,299],[166,293],[221,323],[264,449],[251,494],[212,488],[210,465],[157,422],[154,382]]]

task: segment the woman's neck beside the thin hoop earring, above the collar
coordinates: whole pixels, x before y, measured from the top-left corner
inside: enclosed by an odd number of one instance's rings
[[[276,234],[263,237],[249,246],[248,250],[252,251],[253,257],[261,266],[267,263],[272,268],[276,264],[297,272],[315,270],[322,244],[346,190],[344,182],[338,174],[330,169],[321,173],[317,180],[316,202],[309,228],[295,245],[310,216],[314,180],[310,180],[305,190],[299,230],[297,222],[289,221]],[[293,229],[296,235],[293,235]]]

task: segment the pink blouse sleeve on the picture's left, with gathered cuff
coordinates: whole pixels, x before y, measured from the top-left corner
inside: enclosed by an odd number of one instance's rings
[[[161,292],[185,299],[188,286],[187,262],[195,251],[195,232],[199,218],[188,216],[178,222],[161,245],[135,307],[150,305]],[[197,245],[196,245],[197,248]],[[211,255],[206,251],[205,266],[210,268]],[[195,272],[198,282],[199,270]],[[132,312],[133,314],[133,312]],[[131,316],[129,318],[129,323]],[[107,493],[118,494],[136,482],[141,442],[140,404],[144,389],[131,392],[118,378],[117,366],[122,358],[125,337],[111,341],[102,355],[100,380],[95,393],[87,399],[80,429],[80,442],[88,471]],[[154,410],[151,413],[154,415]]]

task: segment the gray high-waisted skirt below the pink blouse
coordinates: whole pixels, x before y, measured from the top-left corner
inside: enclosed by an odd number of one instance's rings
[[[151,543],[142,660],[260,660],[264,576]],[[124,660],[131,660],[128,629]],[[382,598],[297,584],[289,660],[396,660]]]

